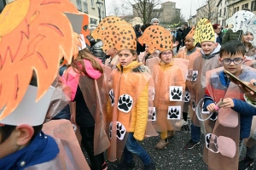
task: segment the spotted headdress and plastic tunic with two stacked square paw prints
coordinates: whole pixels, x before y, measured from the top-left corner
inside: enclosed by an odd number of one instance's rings
[[[149,26],[138,42],[147,44],[149,53],[172,50],[172,35],[161,26]],[[180,130],[189,61],[172,59],[170,64],[164,64],[155,57],[148,63],[154,66],[151,72],[154,78],[154,127],[159,132]]]

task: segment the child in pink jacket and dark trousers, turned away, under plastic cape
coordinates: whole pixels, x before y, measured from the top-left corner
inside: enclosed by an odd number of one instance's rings
[[[107,168],[103,152],[108,149],[109,141],[105,133],[107,97],[103,68],[99,59],[88,48],[79,51],[71,67],[64,75],[64,81],[72,88],[72,101],[75,101],[74,124],[79,126],[82,144],[91,163],[91,168]],[[95,83],[97,85],[95,85]],[[99,96],[101,94],[101,96]],[[101,105],[101,106],[100,106]]]

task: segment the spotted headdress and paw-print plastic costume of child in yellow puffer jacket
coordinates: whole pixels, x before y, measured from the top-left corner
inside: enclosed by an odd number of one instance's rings
[[[136,35],[131,25],[123,22],[119,23],[118,26],[112,26],[113,29],[110,29],[111,26],[108,29],[99,28],[101,33],[99,35],[105,47],[103,49],[106,51],[109,48],[136,50]],[[106,38],[105,35],[109,37]],[[120,35],[123,36],[122,40],[119,40]],[[108,41],[111,38],[113,38],[113,41],[109,43]],[[124,67],[122,71],[120,65],[117,66],[118,68],[112,71],[108,79],[110,91],[108,93],[107,128],[111,142],[108,149],[109,161],[121,158],[130,132],[134,132],[136,139],[140,140],[144,136],[158,135],[152,126],[150,112],[148,114],[148,106],[153,104],[153,97],[148,98],[148,94],[151,92],[151,96],[153,96],[151,89],[154,86],[152,77],[148,74],[148,68],[137,63],[137,61],[133,61],[130,65]],[[140,109],[137,109],[137,107]]]

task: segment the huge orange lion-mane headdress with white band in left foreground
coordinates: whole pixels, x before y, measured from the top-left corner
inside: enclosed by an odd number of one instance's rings
[[[68,0],[16,0],[0,14],[0,123],[43,124],[61,58],[71,62],[78,37]],[[15,41],[13,41],[15,40]],[[38,87],[29,85],[35,72]]]

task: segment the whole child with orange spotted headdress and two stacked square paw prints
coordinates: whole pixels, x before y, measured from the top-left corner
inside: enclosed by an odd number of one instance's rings
[[[153,37],[152,35],[156,38],[150,39]],[[172,60],[172,35],[170,31],[161,26],[149,26],[138,41],[146,43],[150,53],[154,53],[154,50],[160,50],[160,61],[154,65],[151,74],[154,79],[156,130],[160,132],[160,141],[155,145],[155,148],[162,150],[169,143],[168,138],[174,136],[175,130],[179,130],[177,124],[181,120],[181,103],[178,101],[183,99],[185,80],[182,69],[174,65]],[[175,88],[177,91],[174,90]],[[177,93],[177,99],[170,100],[172,93]]]

